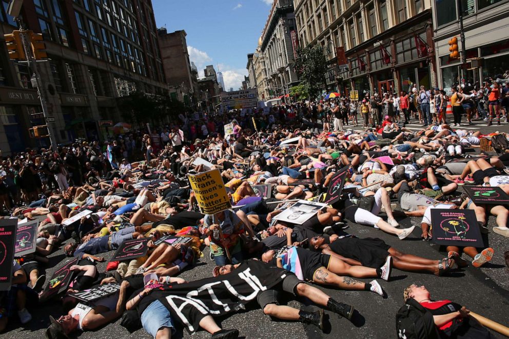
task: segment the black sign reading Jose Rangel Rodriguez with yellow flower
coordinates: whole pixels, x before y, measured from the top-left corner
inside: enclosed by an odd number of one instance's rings
[[[473,210],[432,209],[431,221],[435,244],[484,247]]]

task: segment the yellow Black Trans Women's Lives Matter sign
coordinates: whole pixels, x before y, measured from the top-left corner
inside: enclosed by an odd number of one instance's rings
[[[230,198],[218,169],[188,174],[187,178],[201,213],[216,214],[231,208]]]

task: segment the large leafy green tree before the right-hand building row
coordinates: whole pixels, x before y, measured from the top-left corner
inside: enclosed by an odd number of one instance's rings
[[[301,84],[307,87],[311,97],[316,97],[320,94],[321,88],[327,87],[325,73],[328,64],[322,46],[299,47],[297,58],[293,60],[293,69],[299,75]]]

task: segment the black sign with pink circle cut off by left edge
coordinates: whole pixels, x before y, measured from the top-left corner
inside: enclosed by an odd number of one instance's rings
[[[0,220],[0,291],[11,288],[17,219]]]

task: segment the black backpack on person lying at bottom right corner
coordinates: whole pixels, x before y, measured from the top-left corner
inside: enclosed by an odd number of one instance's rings
[[[396,335],[400,339],[439,339],[433,314],[413,298],[396,313]]]

